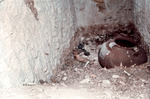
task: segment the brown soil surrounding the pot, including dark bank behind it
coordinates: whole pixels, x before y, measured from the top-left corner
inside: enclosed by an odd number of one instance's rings
[[[132,38],[143,47],[142,37],[132,24],[118,27],[80,29],[77,33],[80,39],[65,58],[61,71],[52,77],[53,84],[86,88],[96,93],[94,99],[150,99],[149,60],[139,66],[112,69],[102,68],[98,63],[101,45],[116,36]]]

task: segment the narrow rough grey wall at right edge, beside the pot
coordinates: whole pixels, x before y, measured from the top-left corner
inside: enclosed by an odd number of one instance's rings
[[[141,33],[143,45],[150,52],[150,0],[133,0],[133,20]]]

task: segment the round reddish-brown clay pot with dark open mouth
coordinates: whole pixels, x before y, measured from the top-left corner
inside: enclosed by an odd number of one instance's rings
[[[115,66],[130,67],[147,62],[147,55],[140,46],[131,39],[117,37],[102,44],[98,53],[98,60],[102,67]]]

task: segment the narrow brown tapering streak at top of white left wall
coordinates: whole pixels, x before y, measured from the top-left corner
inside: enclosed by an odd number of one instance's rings
[[[37,9],[34,7],[34,0],[24,0],[25,4],[27,5],[27,7],[30,8],[30,10],[32,11],[35,19],[38,21],[38,11]]]

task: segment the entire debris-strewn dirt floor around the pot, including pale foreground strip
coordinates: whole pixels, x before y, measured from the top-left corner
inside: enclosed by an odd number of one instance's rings
[[[150,63],[102,68],[97,57],[102,38],[81,37],[51,83],[3,88],[0,99],[150,99]]]

